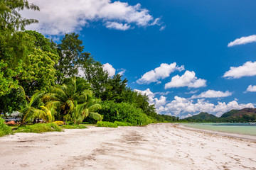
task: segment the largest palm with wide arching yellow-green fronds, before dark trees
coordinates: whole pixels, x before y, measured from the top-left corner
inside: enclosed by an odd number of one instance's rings
[[[87,116],[101,120],[100,114],[95,113],[101,108],[98,104],[100,101],[92,98],[93,92],[86,89],[87,84],[77,81],[75,77],[70,80],[70,84],[55,87],[43,97],[46,106],[60,108],[62,119],[74,123],[82,122]]]

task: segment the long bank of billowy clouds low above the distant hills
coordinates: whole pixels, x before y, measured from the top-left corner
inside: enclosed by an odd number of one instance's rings
[[[174,113],[176,116],[188,113],[207,112],[220,116],[232,109],[242,108],[254,108],[254,105],[252,103],[239,104],[237,101],[230,101],[229,103],[218,102],[218,104],[215,105],[205,99],[197,99],[196,102],[194,102],[188,98],[175,96],[173,101],[167,103],[166,106],[162,106],[161,112]]]

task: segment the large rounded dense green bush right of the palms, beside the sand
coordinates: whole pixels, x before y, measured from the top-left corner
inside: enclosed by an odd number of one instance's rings
[[[153,123],[141,108],[130,103],[114,103],[114,101],[104,101],[101,103],[102,109],[99,111],[103,115],[103,120],[114,122],[126,122],[132,125],[147,125]]]

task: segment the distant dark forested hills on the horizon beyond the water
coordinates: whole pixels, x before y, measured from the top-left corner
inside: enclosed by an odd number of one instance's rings
[[[198,115],[193,115],[183,120],[188,122],[255,122],[256,108],[243,108],[241,110],[231,110],[221,115],[220,118],[216,117],[215,115],[202,112]]]

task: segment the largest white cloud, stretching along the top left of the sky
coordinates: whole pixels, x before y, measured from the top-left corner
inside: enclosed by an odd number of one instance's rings
[[[131,6],[126,2],[110,0],[29,0],[38,5],[40,11],[22,11],[25,18],[35,18],[39,24],[27,29],[37,30],[44,35],[63,35],[81,30],[94,21],[107,28],[127,30],[132,26],[159,25],[159,18],[149,14],[141,4]]]

